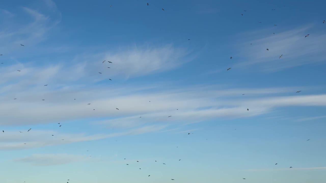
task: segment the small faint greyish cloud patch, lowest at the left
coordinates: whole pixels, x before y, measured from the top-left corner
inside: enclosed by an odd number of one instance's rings
[[[86,155],[72,154],[33,154],[20,159],[15,159],[16,162],[28,163],[32,166],[53,166],[60,164],[68,164],[72,162],[93,161],[94,158],[89,158]]]

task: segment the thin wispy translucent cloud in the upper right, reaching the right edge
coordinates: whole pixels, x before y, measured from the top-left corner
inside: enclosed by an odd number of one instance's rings
[[[323,40],[326,39],[326,34],[316,32],[313,28],[315,27],[310,25],[275,34],[266,29],[241,34],[246,38],[240,39],[241,43],[236,44],[238,55],[235,58],[241,57],[244,61],[232,68],[255,65],[256,70],[274,72],[323,61],[326,47]],[[310,34],[309,37],[304,37],[307,34]],[[282,54],[282,58],[279,59]]]

